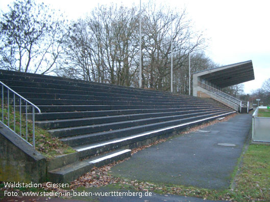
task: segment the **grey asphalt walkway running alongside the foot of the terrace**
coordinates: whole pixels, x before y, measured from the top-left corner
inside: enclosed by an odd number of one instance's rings
[[[228,188],[251,123],[251,114],[237,114],[227,122],[169,138],[114,166],[112,175],[154,183]]]

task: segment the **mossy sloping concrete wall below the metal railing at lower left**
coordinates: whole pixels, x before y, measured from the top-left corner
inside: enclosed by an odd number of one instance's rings
[[[0,181],[41,183],[45,180],[45,157],[0,123]]]

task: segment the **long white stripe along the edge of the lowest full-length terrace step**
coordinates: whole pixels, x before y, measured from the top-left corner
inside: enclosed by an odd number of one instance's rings
[[[123,139],[118,139],[118,140],[114,140],[114,141],[110,141],[110,142],[105,142],[105,143],[102,143],[102,144],[99,144],[99,145],[94,145],[94,146],[90,146],[90,147],[86,147],[86,148],[81,148],[81,149],[78,149],[77,151],[81,152],[81,151],[84,151],[84,150],[89,150],[89,149],[93,149],[93,148],[97,148],[97,147],[102,147],[102,146],[105,146],[105,145],[110,145],[112,143],[117,143],[117,142],[129,140],[129,139],[133,139],[133,138],[136,138],[136,137],[150,135],[152,133],[157,133],[157,132],[164,131],[164,130],[177,128],[177,127],[185,126],[185,125],[188,125],[188,124],[198,123],[200,121],[205,121],[205,120],[208,120],[208,119],[214,119],[214,118],[217,118],[217,117],[222,117],[222,116],[225,116],[225,115],[230,114],[230,113],[234,113],[234,111],[229,112],[229,113],[220,114],[220,115],[215,116],[215,117],[209,117],[209,118],[205,118],[205,119],[200,119],[200,120],[193,121],[193,122],[188,122],[188,123],[184,123],[184,124],[180,124],[180,125],[176,125],[176,126],[170,126],[170,127],[162,128],[162,129],[159,129],[159,130],[154,130],[154,131],[151,131],[151,132],[142,133],[140,135],[134,135],[134,136],[126,137],[126,138],[123,138]]]

